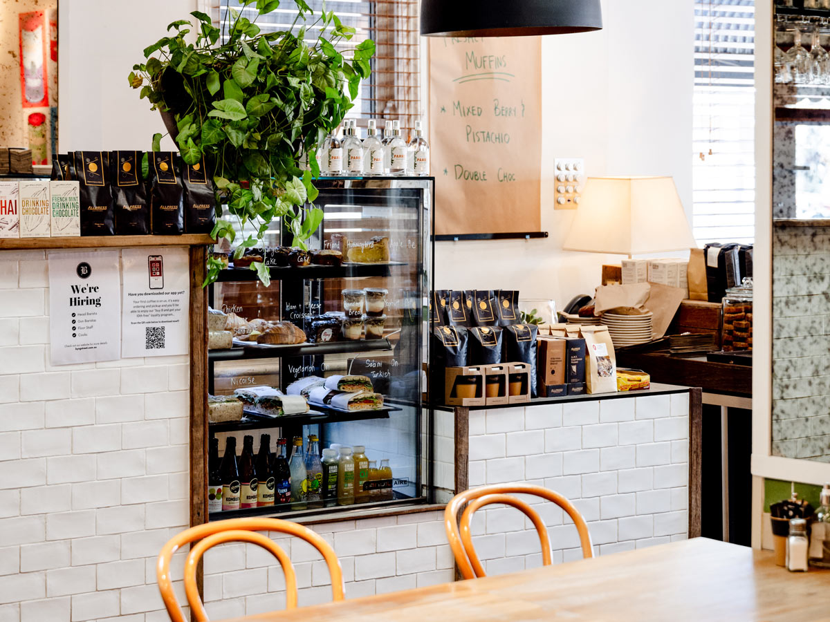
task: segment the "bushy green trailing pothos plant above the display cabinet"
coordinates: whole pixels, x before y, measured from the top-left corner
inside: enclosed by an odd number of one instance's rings
[[[234,226],[256,227],[256,235],[238,243],[236,257],[260,245],[275,218],[283,218],[295,245],[306,248],[323,219],[319,208],[304,207],[317,197],[312,183],[320,174],[317,146],[343,120],[360,80],[371,73],[373,41],[360,42],[346,57],[336,46],[350,40],[354,28],[325,5],[312,22],[315,13],[308,4],[295,3],[294,24],[280,32],[261,32],[256,25],[280,0],[243,0],[240,10],[230,10],[232,22],[224,33],[205,13],[194,11],[195,24],[170,24],[171,35],[145,48],[147,60],[129,74],[130,85],[162,112],[184,162],[205,158],[214,173],[219,205],[226,204],[228,214],[217,220],[212,236],[233,242]],[[251,14],[252,19],[244,17]],[[293,34],[297,22],[305,25]],[[198,34],[188,42],[193,27]],[[309,45],[306,37],[318,30]],[[154,151],[161,138],[154,134]],[[219,270],[219,260],[207,260],[205,284],[215,281]],[[251,270],[270,283],[260,262]]]

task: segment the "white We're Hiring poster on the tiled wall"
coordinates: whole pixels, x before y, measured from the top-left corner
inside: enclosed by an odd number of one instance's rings
[[[117,250],[49,254],[52,365],[120,358],[118,255]]]

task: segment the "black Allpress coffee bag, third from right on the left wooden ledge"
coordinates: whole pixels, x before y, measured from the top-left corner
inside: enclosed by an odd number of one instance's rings
[[[115,233],[119,236],[146,236],[150,232],[147,187],[141,175],[140,151],[112,151],[115,201]]]

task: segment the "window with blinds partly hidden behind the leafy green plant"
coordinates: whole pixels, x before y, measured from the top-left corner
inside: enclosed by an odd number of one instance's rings
[[[250,7],[242,7],[243,3],[220,0],[213,13],[220,21],[220,28],[222,22],[230,19],[229,7],[250,12],[250,19],[256,16],[253,2],[249,0]],[[334,11],[346,26],[356,29],[352,41],[369,38],[377,46],[372,75],[361,85],[349,119],[358,119],[361,127],[366,127],[368,119],[400,119],[402,133],[408,135],[408,130],[422,116],[418,0],[307,0],[307,3],[315,11],[310,22],[320,15],[325,4],[326,11]],[[262,32],[291,29],[296,33],[303,24],[292,25],[295,16],[294,2],[286,0],[276,11],[259,17],[256,25]],[[319,29],[309,24],[306,41],[313,43]],[[350,47],[352,41],[344,41],[341,50]],[[380,128],[382,125],[378,123]]]

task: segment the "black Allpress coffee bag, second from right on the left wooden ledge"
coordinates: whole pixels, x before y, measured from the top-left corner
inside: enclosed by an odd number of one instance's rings
[[[148,156],[150,229],[156,236],[180,236],[184,232],[184,188],[178,155],[154,151]]]

